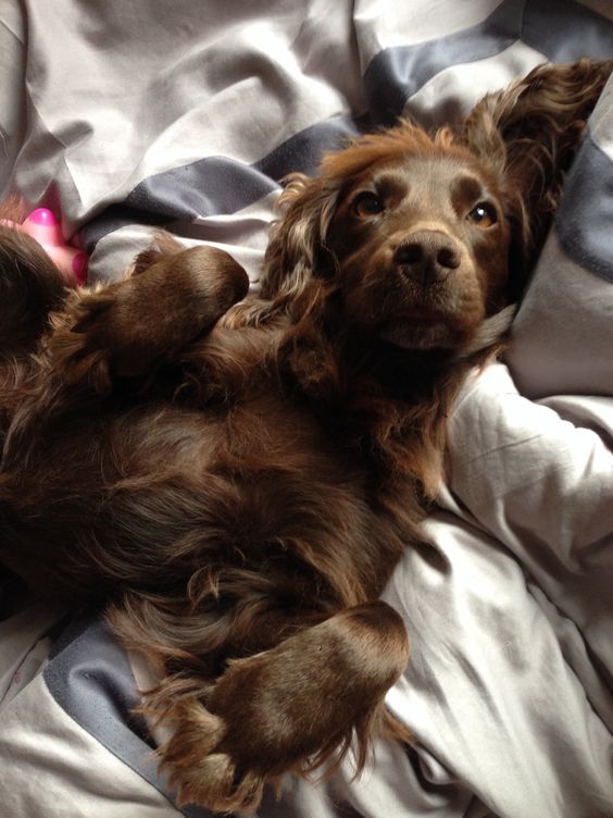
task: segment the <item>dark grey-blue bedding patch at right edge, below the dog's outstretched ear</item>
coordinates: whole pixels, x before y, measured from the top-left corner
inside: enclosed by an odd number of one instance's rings
[[[564,251],[613,282],[613,162],[588,134],[565,182],[555,218]]]

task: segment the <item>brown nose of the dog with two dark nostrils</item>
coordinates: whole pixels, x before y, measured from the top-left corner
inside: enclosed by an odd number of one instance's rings
[[[420,284],[434,284],[460,267],[460,249],[455,241],[439,231],[417,231],[401,241],[393,261],[409,278]]]

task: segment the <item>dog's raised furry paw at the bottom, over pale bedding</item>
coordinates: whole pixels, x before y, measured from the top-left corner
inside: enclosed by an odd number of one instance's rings
[[[406,660],[402,620],[373,602],[232,661],[201,698],[171,704],[175,732],[160,753],[179,802],[254,809],[266,783],[334,767],[354,740],[361,769]]]

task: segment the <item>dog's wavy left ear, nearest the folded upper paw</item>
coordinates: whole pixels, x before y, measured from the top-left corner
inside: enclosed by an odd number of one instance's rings
[[[328,271],[331,260],[325,237],[338,199],[338,185],[321,175],[295,173],[285,179],[279,198],[282,216],[272,226],[264,257],[265,298],[301,292],[313,275]]]

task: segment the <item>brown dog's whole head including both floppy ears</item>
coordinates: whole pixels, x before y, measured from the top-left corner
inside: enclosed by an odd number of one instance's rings
[[[539,67],[454,133],[401,122],[328,154],[314,178],[291,176],[263,295],[291,299],[324,281],[372,336],[409,349],[480,344],[484,320],[523,289],[610,69]]]

